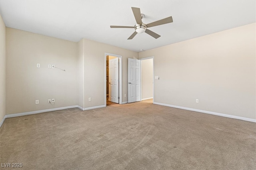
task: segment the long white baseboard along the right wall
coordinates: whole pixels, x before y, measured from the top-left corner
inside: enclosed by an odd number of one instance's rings
[[[189,107],[175,106],[175,105],[170,105],[170,104],[162,104],[162,103],[158,103],[158,102],[153,102],[153,104],[157,104],[157,105],[161,105],[161,106],[168,106],[168,107],[175,107],[175,108],[178,108],[178,109],[185,109],[185,110],[190,110],[190,111],[197,111],[197,112],[201,112],[201,113],[207,113],[207,114],[211,114],[211,115],[218,115],[218,116],[222,116],[222,117],[229,117],[229,118],[233,118],[233,119],[240,119],[240,120],[244,120],[244,121],[256,122],[256,119],[252,119],[252,118],[248,118],[248,117],[228,115],[228,114],[223,114],[223,113],[216,113],[216,112],[213,112],[213,111],[193,109],[193,108],[189,108]]]

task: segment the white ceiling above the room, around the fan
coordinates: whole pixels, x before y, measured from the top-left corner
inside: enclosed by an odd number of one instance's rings
[[[145,14],[143,23],[172,16],[173,23],[151,27],[154,39],[133,28],[131,7]],[[6,27],[78,42],[82,38],[139,52],[256,22],[256,1],[85,1],[0,0]]]

